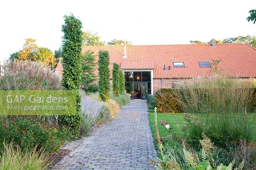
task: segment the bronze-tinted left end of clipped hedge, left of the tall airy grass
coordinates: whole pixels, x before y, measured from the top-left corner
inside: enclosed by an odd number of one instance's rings
[[[161,113],[181,113],[181,104],[173,91],[178,89],[161,88],[156,92],[156,107]]]

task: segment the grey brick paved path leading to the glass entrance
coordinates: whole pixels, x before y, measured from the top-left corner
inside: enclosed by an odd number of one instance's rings
[[[148,170],[147,159],[155,155],[146,101],[131,100],[53,169]]]

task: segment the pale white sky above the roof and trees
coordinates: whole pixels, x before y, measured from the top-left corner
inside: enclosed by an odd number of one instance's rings
[[[256,24],[246,20],[255,8],[255,0],[3,0],[0,61],[22,49],[26,38],[36,39],[39,47],[58,49],[63,16],[70,13],[81,20],[83,31],[98,32],[101,41],[163,45],[255,35]]]

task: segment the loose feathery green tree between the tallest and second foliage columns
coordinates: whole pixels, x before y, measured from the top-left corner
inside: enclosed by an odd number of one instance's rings
[[[85,92],[92,86],[92,82],[97,80],[97,76],[94,74],[96,63],[95,63],[94,52],[86,51],[82,55],[82,87]]]

